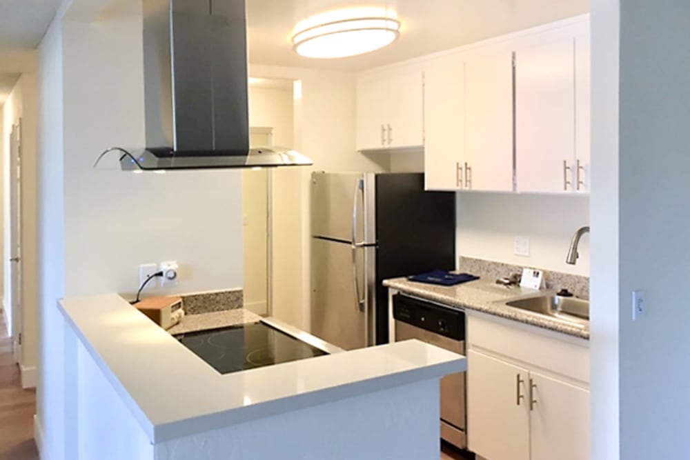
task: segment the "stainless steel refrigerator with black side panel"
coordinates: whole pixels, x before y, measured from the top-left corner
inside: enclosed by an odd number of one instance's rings
[[[311,332],[346,350],[388,343],[382,281],[455,268],[455,193],[424,174],[311,177]]]

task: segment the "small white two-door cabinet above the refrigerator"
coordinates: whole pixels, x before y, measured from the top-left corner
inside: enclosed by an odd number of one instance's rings
[[[357,80],[357,150],[424,144],[421,69],[393,68]]]

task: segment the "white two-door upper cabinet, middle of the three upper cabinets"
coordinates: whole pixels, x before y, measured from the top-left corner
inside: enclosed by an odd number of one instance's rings
[[[513,190],[510,50],[449,54],[427,63],[427,190]]]

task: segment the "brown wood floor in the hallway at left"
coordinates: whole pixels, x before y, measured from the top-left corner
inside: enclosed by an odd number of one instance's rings
[[[34,443],[36,392],[23,390],[12,341],[0,315],[0,460],[38,460]]]

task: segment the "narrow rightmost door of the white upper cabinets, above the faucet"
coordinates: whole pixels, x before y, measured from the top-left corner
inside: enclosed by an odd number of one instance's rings
[[[591,45],[588,34],[575,37],[575,190],[589,192],[591,150]]]

